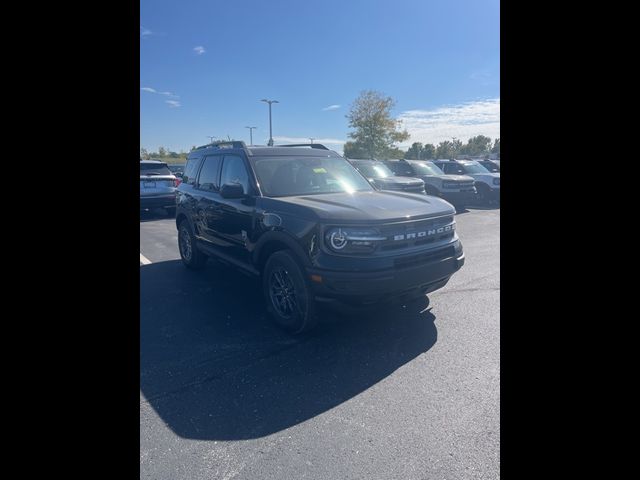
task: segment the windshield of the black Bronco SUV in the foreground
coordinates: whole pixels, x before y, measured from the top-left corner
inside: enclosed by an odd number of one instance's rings
[[[263,193],[268,197],[362,192],[374,188],[341,157],[252,157]]]

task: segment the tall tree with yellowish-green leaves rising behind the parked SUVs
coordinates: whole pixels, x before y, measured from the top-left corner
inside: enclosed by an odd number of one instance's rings
[[[395,152],[395,144],[409,139],[406,130],[398,130],[399,121],[392,118],[395,100],[374,90],[365,90],[355,99],[346,117],[354,131],[349,138],[365,158],[385,158]],[[346,147],[346,145],[345,145]]]

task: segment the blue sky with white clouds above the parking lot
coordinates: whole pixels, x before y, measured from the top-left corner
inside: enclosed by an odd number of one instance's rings
[[[396,99],[406,142],[500,132],[498,0],[142,0],[140,143],[314,137],[338,151],[365,89]]]

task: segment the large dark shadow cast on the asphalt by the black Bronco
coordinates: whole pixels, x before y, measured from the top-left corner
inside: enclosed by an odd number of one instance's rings
[[[140,267],[140,386],[177,435],[262,437],[362,393],[436,342],[426,305],[330,318],[293,338],[266,318],[259,282],[209,262]],[[144,409],[144,405],[141,409]],[[141,413],[142,414],[142,413]]]

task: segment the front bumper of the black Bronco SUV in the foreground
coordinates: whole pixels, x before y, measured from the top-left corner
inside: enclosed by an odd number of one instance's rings
[[[416,256],[415,262],[383,271],[337,272],[308,268],[307,273],[312,280],[315,297],[320,301],[367,304],[393,297],[417,297],[443,287],[464,265],[461,249],[451,249],[444,258],[428,259],[429,255],[434,257],[437,253],[425,252],[421,256],[426,260]]]

